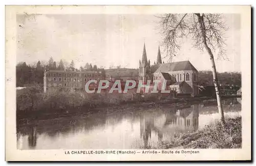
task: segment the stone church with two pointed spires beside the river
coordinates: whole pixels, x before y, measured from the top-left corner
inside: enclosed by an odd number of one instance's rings
[[[193,96],[199,94],[198,70],[189,61],[162,63],[159,46],[156,64],[151,65],[150,60],[147,61],[144,43],[142,58],[139,61],[139,80],[166,81],[168,89],[177,93]]]

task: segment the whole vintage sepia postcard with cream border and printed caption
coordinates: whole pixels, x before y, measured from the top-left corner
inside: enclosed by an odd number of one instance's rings
[[[7,161],[251,160],[250,6],[6,6],[5,30]]]

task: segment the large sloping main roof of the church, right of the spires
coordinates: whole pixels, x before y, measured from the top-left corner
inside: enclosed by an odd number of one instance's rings
[[[181,70],[195,70],[197,69],[189,61],[180,61],[172,63],[162,63],[151,66],[151,72],[174,72]]]

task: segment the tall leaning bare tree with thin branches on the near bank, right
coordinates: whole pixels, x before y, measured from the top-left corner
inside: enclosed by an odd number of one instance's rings
[[[163,43],[167,55],[172,60],[180,50],[180,40],[191,37],[193,46],[206,51],[212,67],[218,110],[221,114],[222,124],[225,124],[224,112],[221,104],[220,87],[217,79],[217,70],[212,51],[218,51],[218,58],[225,58],[223,31],[226,31],[225,22],[221,14],[192,13],[192,14],[165,14],[158,16],[160,27],[164,35]]]

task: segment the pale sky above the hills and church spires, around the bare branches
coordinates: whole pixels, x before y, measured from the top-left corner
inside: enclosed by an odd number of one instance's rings
[[[225,14],[227,60],[216,60],[217,72],[241,72],[240,15]],[[162,46],[159,19],[155,15],[58,14],[17,15],[16,61],[35,64],[53,57],[79,68],[86,63],[98,67],[121,65],[138,68],[145,42],[147,59],[153,64],[158,45],[162,61],[168,57]],[[214,53],[217,55],[217,53]],[[217,57],[217,56],[216,56]],[[209,55],[183,40],[173,61],[189,60],[198,70],[211,70]]]

